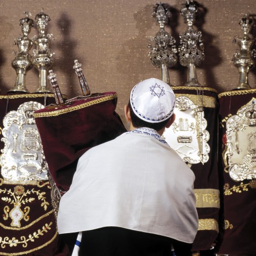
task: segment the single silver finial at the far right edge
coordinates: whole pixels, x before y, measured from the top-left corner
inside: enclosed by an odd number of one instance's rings
[[[239,82],[235,89],[251,89],[248,83],[248,74],[252,67],[254,67],[255,49],[252,49],[255,45],[255,40],[249,33],[253,26],[253,19],[250,18],[250,14],[244,15],[239,21],[239,25],[243,30],[243,37],[236,36],[233,43],[239,45],[239,50],[233,55],[232,61],[235,67],[239,70]],[[234,89],[234,90],[235,90]]]

